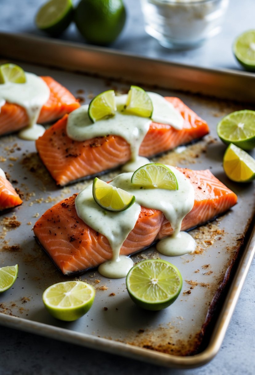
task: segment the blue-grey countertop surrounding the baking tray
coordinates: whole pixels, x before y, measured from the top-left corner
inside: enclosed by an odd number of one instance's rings
[[[34,27],[34,15],[43,0],[0,0],[0,30],[42,35]],[[137,0],[124,0],[128,18],[125,28],[111,48],[153,58],[213,68],[242,68],[236,62],[231,45],[242,31],[254,28],[255,1],[230,0],[221,34],[203,46],[188,51],[163,48],[144,31],[141,9]],[[77,1],[74,1],[77,3]],[[62,39],[84,42],[74,25]],[[27,374],[101,374],[120,375],[253,375],[255,373],[255,264],[253,262],[216,357],[199,369],[175,370],[96,350],[58,342],[40,336],[1,327],[0,375]]]

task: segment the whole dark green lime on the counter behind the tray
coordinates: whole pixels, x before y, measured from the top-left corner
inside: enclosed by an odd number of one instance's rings
[[[88,42],[108,45],[122,31],[126,9],[122,0],[81,0],[75,9],[74,21]]]

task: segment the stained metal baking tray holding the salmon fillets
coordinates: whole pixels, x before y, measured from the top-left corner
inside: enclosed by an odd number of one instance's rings
[[[20,48],[16,55],[14,50],[10,49],[9,53],[8,49],[3,48],[8,40],[15,42],[15,45],[19,42]],[[119,79],[118,73],[118,79],[114,80],[111,74],[107,77],[108,65],[111,65],[110,70],[116,68],[116,71],[120,72],[119,58],[124,58],[124,55],[40,39],[32,53],[31,47],[34,43],[35,38],[15,35],[5,35],[3,41],[3,34],[0,34],[2,58],[8,58],[8,61],[10,58],[12,61],[14,58],[22,60],[18,63],[26,71],[51,75],[82,102],[88,103],[93,96],[109,88],[126,92],[129,88],[127,81],[130,80],[132,84],[140,84],[138,72],[142,66],[147,72],[142,78],[144,89],[149,87],[151,90],[151,85],[154,84],[148,74],[148,67],[152,64],[149,59],[143,58],[141,61],[129,55],[127,58],[129,63],[132,63],[133,77],[130,70],[126,76],[126,70],[122,69],[122,79]],[[43,43],[44,48],[48,46],[47,58],[41,58],[40,43]],[[25,46],[23,54],[22,46]],[[56,48],[58,56],[52,53]],[[71,60],[68,70],[56,69],[57,66],[67,68],[64,52],[70,48],[73,51],[74,65]],[[27,51],[30,53],[27,54]],[[78,69],[79,53],[82,67],[80,65],[80,72],[77,73],[74,71]],[[91,74],[92,55],[95,57],[98,53],[102,57],[102,69],[97,61],[93,73],[97,72],[100,77],[95,77]],[[37,61],[34,55],[37,55],[40,61]],[[111,60],[106,63],[109,55]],[[52,65],[53,59],[54,68],[47,67]],[[25,60],[27,62],[24,62]],[[31,61],[37,65],[31,65]],[[156,80],[158,74],[161,82],[162,62],[157,65],[157,61],[153,60],[153,68],[153,80]],[[172,68],[170,63],[164,63],[163,75],[171,75]],[[203,77],[203,81],[197,81],[197,87],[193,91],[204,93],[203,87],[207,86],[206,93],[210,93],[209,89],[212,87],[211,93],[216,96],[213,77],[217,77],[218,71],[203,71],[201,75],[201,71],[196,68],[181,65],[177,68],[179,77],[184,77],[185,74],[186,77],[193,77],[195,83],[194,71],[198,77]],[[105,78],[102,78],[103,75]],[[96,271],[90,271],[81,276],[82,280],[86,280],[96,289],[96,299],[90,311],[72,323],[50,317],[43,307],[43,291],[49,285],[71,277],[59,273],[35,242],[31,229],[37,217],[47,208],[80,191],[90,181],[59,189],[40,162],[34,142],[23,141],[16,135],[0,139],[0,167],[7,172],[10,181],[24,199],[20,207],[0,216],[1,266],[19,264],[18,279],[9,291],[0,296],[0,324],[165,366],[190,368],[200,366],[213,358],[224,338],[255,252],[252,222],[255,211],[254,184],[235,184],[225,177],[222,169],[225,145],[216,136],[216,124],[225,114],[244,108],[254,109],[254,106],[242,102],[242,99],[246,101],[246,97],[236,97],[237,102],[227,100],[233,99],[233,93],[240,89],[239,83],[242,82],[243,74],[220,72],[220,75],[224,81],[221,85],[225,86],[225,89],[220,90],[220,86],[219,94],[224,92],[225,99],[176,92],[176,87],[179,90],[188,90],[183,78],[179,78],[179,81],[176,78],[173,86],[169,81],[167,89],[161,89],[159,85],[154,88],[154,91],[162,95],[181,98],[208,121],[211,133],[199,142],[170,151],[153,160],[191,169],[209,168],[236,192],[239,198],[238,204],[228,213],[190,232],[197,243],[195,254],[164,257],[151,247],[133,257],[134,261],[139,261],[160,256],[175,264],[181,271],[184,283],[179,298],[172,306],[160,312],[146,312],[135,306],[127,294],[125,279],[110,280]],[[248,76],[249,74],[245,74],[245,78]],[[255,77],[250,76],[252,86]],[[166,87],[166,83],[162,86]],[[251,98],[248,102],[252,102]],[[103,178],[109,180],[118,172],[104,175]]]

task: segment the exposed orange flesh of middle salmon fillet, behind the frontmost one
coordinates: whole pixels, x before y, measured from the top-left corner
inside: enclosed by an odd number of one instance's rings
[[[139,149],[139,155],[151,157],[208,134],[208,124],[179,98],[166,98],[184,118],[176,130],[170,125],[151,123]],[[86,141],[74,141],[66,133],[68,116],[63,117],[36,141],[39,156],[57,185],[91,178],[130,160],[129,143],[120,136],[107,135]]]

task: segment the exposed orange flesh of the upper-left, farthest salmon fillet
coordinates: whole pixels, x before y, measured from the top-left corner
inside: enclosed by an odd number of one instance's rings
[[[38,123],[55,121],[80,107],[74,96],[51,77],[41,77],[50,89],[49,100],[43,105]],[[25,108],[6,102],[0,111],[0,135],[16,132],[28,126]]]

